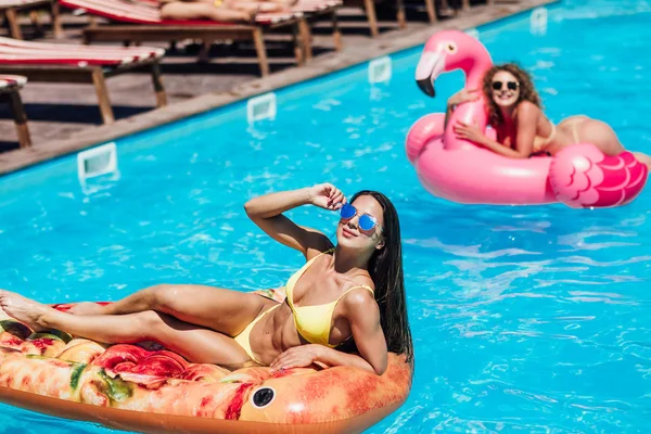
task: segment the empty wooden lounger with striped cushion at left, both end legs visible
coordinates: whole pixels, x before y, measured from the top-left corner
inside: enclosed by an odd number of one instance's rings
[[[15,74],[31,81],[88,82],[94,85],[104,124],[114,120],[106,78],[145,68],[152,74],[156,105],[167,103],[161,81],[164,50],[149,47],[88,47],[69,43],[21,41],[0,37],[0,74]]]

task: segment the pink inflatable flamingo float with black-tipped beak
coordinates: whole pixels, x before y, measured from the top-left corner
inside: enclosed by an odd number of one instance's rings
[[[493,62],[484,46],[457,30],[432,36],[416,69],[423,92],[434,97],[434,80],[462,69],[467,89],[481,89]],[[434,195],[467,204],[547,204],[610,207],[633,201],[647,182],[648,168],[631,153],[607,156],[591,143],[563,149],[553,157],[508,158],[457,139],[457,120],[474,123],[485,133],[485,100],[459,105],[444,128],[445,114],[426,115],[407,135],[407,156],[423,186]]]

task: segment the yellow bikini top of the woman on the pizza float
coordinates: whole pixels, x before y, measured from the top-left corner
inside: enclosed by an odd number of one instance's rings
[[[335,347],[336,345],[330,345],[330,329],[332,329],[332,314],[334,314],[334,308],[336,304],[353,290],[357,290],[358,288],[367,289],[373,293],[373,290],[367,285],[357,285],[353,286],[342,295],[339,296],[337,299],[331,303],[326,303],[322,305],[315,306],[294,306],[294,285],[301,279],[301,276],[309,268],[310,265],[318,258],[321,257],[324,253],[331,253],[333,250],[329,250],[328,252],[323,252],[320,255],[315,256],[310,260],[308,260],[298,271],[296,271],[290,280],[288,280],[288,284],[285,288],[288,294],[288,304],[294,314],[294,324],[296,326],[296,330],[298,333],[310,344],[321,344],[329,347]]]

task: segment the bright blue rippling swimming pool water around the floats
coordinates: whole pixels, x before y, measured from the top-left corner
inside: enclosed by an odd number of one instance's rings
[[[480,29],[529,68],[552,120],[584,113],[651,152],[651,1],[567,0],[545,35],[523,14]],[[119,177],[82,191],[74,158],[0,179],[0,286],[42,302],[116,299],[161,282],[243,291],[301,264],[247,220],[258,194],[331,181],[371,188],[403,226],[416,378],[369,433],[644,432],[651,408],[651,190],[617,209],[462,206],[419,184],[409,126],[461,84],[417,89],[420,50],[390,82],[358,67],[281,91],[276,120],[243,104],[118,142]],[[291,216],[333,234],[337,217]],[[0,432],[104,433],[0,405]]]

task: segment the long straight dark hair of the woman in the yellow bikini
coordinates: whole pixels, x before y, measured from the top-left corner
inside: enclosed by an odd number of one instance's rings
[[[357,192],[350,203],[359,196],[373,197],[382,206],[382,237],[384,246],[375,250],[369,260],[369,275],[375,284],[375,302],[380,307],[380,323],[390,352],[404,354],[413,363],[413,343],[407,316],[407,295],[403,272],[403,243],[398,213],[388,197],[371,190]]]

